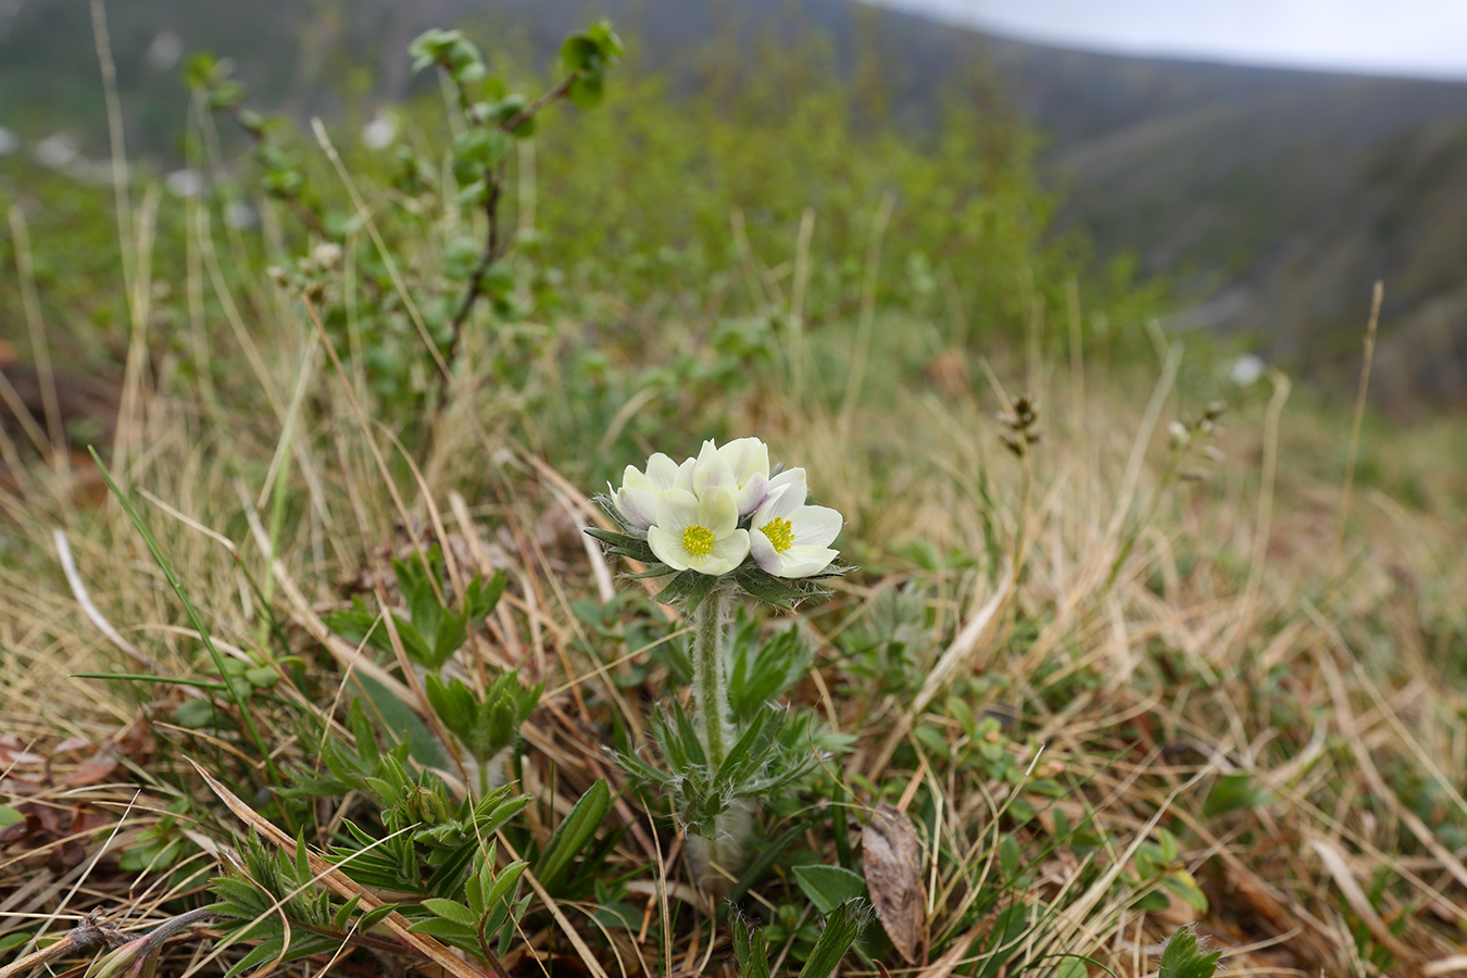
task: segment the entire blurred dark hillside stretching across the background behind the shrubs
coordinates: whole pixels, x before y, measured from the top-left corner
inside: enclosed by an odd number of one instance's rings
[[[634,59],[681,87],[726,81],[760,44],[827,38],[911,133],[930,132],[956,79],[984,76],[1000,97],[977,111],[1017,111],[1045,133],[1056,227],[1175,282],[1174,328],[1241,334],[1348,390],[1379,277],[1378,396],[1467,403],[1467,85],[1065,51],[846,0],[109,6],[129,139],[164,160],[186,113],[180,51],[233,59],[260,101],[296,116],[365,113],[408,92],[403,50],[427,26],[462,25],[491,48],[524,40],[547,60],[587,15],[613,18]],[[69,130],[103,152],[85,1],[0,7],[0,125],[28,141]]]

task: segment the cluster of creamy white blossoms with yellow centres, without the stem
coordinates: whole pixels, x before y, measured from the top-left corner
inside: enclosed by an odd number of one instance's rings
[[[719,576],[753,557],[766,573],[794,579],[832,565],[830,544],[844,522],[827,506],[807,506],[807,494],[804,469],[772,475],[769,446],[736,438],[722,447],[704,441],[682,465],[660,452],[644,471],[628,465],[610,499],[672,570]]]

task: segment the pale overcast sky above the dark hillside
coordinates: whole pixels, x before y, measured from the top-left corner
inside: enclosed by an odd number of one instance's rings
[[[1065,47],[1467,79],[1467,0],[880,1]]]

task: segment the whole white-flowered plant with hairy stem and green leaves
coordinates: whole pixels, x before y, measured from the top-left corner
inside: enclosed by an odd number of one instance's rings
[[[738,874],[753,849],[754,806],[819,764],[808,716],[786,723],[788,711],[769,702],[798,682],[808,654],[798,664],[792,651],[763,658],[760,682],[785,680],[778,689],[761,686],[750,707],[750,667],[734,667],[725,651],[729,611],[741,595],[789,609],[829,594],[823,581],[852,569],[830,547],[844,521],[833,509],[807,506],[805,471],[770,469],[769,446],[758,438],[722,447],[704,441],[682,463],[659,452],[641,469],[628,465],[621,488],[606,488],[597,503],[615,528],[585,532],[607,554],[644,565],[635,576],[670,578],[657,601],[681,606],[687,616],[692,667],[691,714],[673,698],[651,723],[663,764],[629,743],[615,754],[632,782],[667,793],[688,828],[700,886],[722,896],[732,878],[726,874]]]

